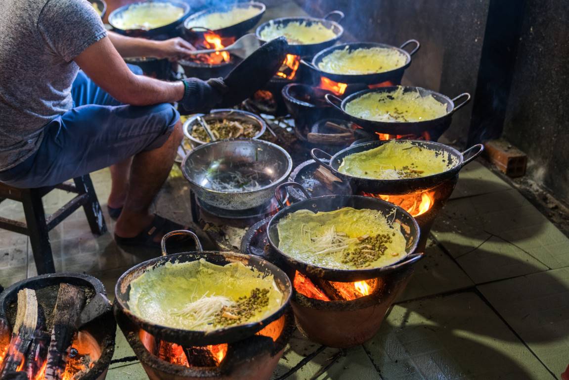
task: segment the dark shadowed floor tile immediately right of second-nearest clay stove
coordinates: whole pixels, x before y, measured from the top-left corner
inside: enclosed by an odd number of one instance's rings
[[[466,273],[438,246],[427,243],[424,257],[415,265],[415,273],[397,302],[437,295],[474,284]]]

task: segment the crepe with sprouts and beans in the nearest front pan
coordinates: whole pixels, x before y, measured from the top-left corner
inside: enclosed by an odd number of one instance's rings
[[[203,259],[151,269],[130,284],[129,296],[135,315],[197,331],[260,321],[283,302],[272,275],[242,263],[222,266]]]

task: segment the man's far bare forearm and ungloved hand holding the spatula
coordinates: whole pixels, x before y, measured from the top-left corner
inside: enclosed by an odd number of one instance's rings
[[[184,58],[195,48],[182,38],[171,38],[165,41],[155,41],[145,38],[127,37],[109,31],[110,41],[123,58],[156,57],[180,59]]]

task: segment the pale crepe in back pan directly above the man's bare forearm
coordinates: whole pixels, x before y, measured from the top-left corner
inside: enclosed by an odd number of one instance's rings
[[[183,15],[184,9],[172,3],[147,2],[131,5],[113,23],[122,30],[150,30],[171,24]]]

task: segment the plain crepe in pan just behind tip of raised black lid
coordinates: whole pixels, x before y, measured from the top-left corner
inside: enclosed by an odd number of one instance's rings
[[[336,34],[319,22],[306,21],[293,21],[286,26],[270,23],[261,31],[261,38],[266,41],[280,36],[284,36],[291,45],[309,45],[331,40]]]

